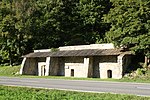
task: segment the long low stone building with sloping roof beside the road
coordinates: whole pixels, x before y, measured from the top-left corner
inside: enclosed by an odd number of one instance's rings
[[[131,61],[130,52],[116,49],[113,44],[35,50],[23,57],[20,74],[102,79],[122,78]]]

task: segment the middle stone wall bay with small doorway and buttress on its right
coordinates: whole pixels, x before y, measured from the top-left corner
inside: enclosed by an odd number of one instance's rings
[[[71,73],[73,73],[73,77],[92,77],[93,75],[92,57],[51,58],[51,63],[53,63],[50,65],[51,75],[56,75],[56,73],[66,77],[71,77]]]

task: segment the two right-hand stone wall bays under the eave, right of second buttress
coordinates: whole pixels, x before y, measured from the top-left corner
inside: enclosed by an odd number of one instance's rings
[[[114,79],[120,79],[123,70],[129,65],[129,56],[99,56],[99,57],[62,57],[51,58],[50,75],[66,77],[97,77],[108,78],[108,70],[112,71]]]

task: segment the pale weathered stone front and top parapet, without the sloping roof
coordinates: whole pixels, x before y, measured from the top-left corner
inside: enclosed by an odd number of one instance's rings
[[[109,45],[99,45],[93,48],[109,49]],[[61,50],[89,49],[88,46],[60,47]],[[86,48],[88,47],[88,48]],[[112,44],[110,49],[112,49]],[[45,52],[47,50],[36,50],[35,52]],[[125,70],[130,64],[130,55],[122,53],[120,55],[101,56],[68,56],[68,57],[29,57],[24,58],[20,74],[30,74],[39,76],[65,76],[65,77],[95,77],[95,78],[122,78]]]

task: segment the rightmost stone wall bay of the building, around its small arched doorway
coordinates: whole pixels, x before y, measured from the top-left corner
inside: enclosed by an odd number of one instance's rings
[[[107,57],[109,57],[107,59]],[[108,78],[108,71],[111,71],[114,79],[120,79],[123,77],[126,69],[131,63],[131,55],[121,54],[119,56],[107,56],[101,59],[99,63],[100,78]],[[100,57],[101,58],[101,57]],[[105,61],[107,60],[107,61]]]

